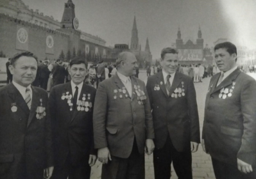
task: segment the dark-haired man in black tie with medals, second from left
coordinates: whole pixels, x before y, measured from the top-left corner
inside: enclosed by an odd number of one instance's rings
[[[83,59],[72,59],[71,82],[51,89],[49,107],[56,155],[53,179],[89,179],[90,167],[96,162],[92,128],[96,89],[83,82],[86,69]]]

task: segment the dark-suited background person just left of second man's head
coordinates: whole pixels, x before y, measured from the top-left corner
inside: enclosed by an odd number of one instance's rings
[[[57,59],[56,65],[53,66],[53,70],[51,71],[53,74],[53,86],[56,86],[57,84],[64,84],[65,77],[67,76],[67,71],[65,70],[65,67],[62,66],[62,60]]]

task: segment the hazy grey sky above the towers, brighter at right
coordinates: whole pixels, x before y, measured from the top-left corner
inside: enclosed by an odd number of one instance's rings
[[[62,19],[67,0],[22,0],[33,10]],[[153,59],[171,46],[180,27],[183,42],[196,40],[201,26],[204,44],[210,47],[218,38],[235,45],[256,48],[255,0],[73,0],[79,29],[99,36],[106,45],[129,43],[133,17],[136,16],[139,43],[144,50],[146,38]]]

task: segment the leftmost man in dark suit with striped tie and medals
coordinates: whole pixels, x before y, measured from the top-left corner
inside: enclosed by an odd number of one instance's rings
[[[48,95],[31,86],[37,60],[31,52],[21,52],[11,59],[9,69],[13,81],[0,90],[0,178],[50,178],[53,143]]]

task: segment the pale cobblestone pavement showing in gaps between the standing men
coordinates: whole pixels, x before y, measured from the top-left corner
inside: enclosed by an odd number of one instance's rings
[[[139,74],[139,79],[142,79],[144,82],[147,81],[146,72],[141,71]],[[209,86],[210,78],[203,79],[203,82],[195,83],[196,88],[197,102],[198,102],[198,112],[200,117],[200,132],[203,126],[203,116],[205,108],[205,96]],[[172,171],[171,175],[173,179],[178,178],[171,166]],[[145,170],[146,170],[146,179],[154,179],[154,169],[153,169],[153,155],[145,155]],[[203,152],[201,144],[198,148],[198,152],[192,153],[192,170],[194,179],[214,179],[214,171],[212,169],[212,162],[210,160],[210,155],[207,155]],[[92,167],[91,173],[92,179],[101,178],[101,163],[96,162],[96,165]]]

